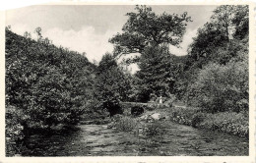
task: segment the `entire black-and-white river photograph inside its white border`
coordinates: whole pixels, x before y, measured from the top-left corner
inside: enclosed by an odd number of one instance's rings
[[[7,10],[5,157],[249,156],[249,9]]]

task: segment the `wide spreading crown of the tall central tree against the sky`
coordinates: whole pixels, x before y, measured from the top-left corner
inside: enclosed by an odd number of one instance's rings
[[[137,12],[126,14],[129,18],[122,27],[123,33],[117,33],[109,39],[118,54],[142,53],[150,45],[178,46],[186,23],[191,21],[186,12],[180,16],[167,13],[158,16],[152,12],[151,7],[139,5],[135,10]]]

